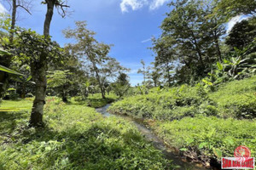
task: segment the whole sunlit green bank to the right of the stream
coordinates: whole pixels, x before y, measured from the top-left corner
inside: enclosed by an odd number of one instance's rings
[[[215,92],[201,85],[154,89],[114,103],[109,111],[143,118],[162,139],[208,164],[247,145],[256,156],[256,77],[227,82]]]

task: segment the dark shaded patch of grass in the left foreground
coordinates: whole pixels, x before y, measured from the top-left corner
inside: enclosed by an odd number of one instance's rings
[[[99,124],[83,131],[79,127],[61,133],[49,127],[34,130],[20,133],[21,142],[10,145],[16,157],[6,155],[5,161],[13,161],[22,169],[28,168],[22,167],[24,160],[42,169],[124,169],[140,160],[153,159],[149,155],[151,151],[144,144],[138,144],[143,143],[141,136],[132,131],[122,134],[111,126]]]

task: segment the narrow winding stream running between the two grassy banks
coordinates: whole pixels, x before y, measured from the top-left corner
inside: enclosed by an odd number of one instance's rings
[[[119,115],[110,114],[107,111],[109,106],[110,104],[105,105],[104,107],[101,107],[101,108],[97,108],[96,111],[102,113],[102,115],[106,117],[117,116],[117,117],[122,117],[129,122],[132,122],[137,127],[137,129],[143,134],[143,136],[149,142],[151,142],[157,150],[161,150],[168,160],[172,160],[172,162],[175,165],[180,166],[179,169],[181,170],[218,170],[218,168],[215,168],[215,167],[214,168],[203,167],[201,164],[189,162],[186,160],[186,158],[177,156],[177,154],[174,153],[174,150],[169,149],[162,140],[160,140],[150,129],[148,129],[145,125],[143,125],[143,122],[133,119],[130,116],[119,116]]]

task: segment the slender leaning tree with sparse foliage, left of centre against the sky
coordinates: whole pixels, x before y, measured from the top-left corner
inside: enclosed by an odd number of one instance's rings
[[[76,22],[77,28],[64,30],[63,33],[67,38],[74,38],[77,42],[67,46],[80,59],[85,61],[90,70],[95,74],[96,81],[100,88],[102,99],[105,99],[104,84],[108,82],[108,77],[115,76],[115,73],[125,68],[119,65],[116,59],[108,56],[110,45],[98,42],[95,39],[95,32],[86,28],[84,21]],[[86,63],[87,62],[87,63]]]

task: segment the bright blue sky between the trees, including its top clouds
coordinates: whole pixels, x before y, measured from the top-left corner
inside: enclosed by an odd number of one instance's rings
[[[61,31],[73,27],[74,21],[86,20],[88,28],[96,31],[96,39],[100,42],[113,44],[110,56],[119,60],[121,65],[131,68],[129,73],[132,85],[143,81],[137,74],[143,59],[147,65],[154,61],[150,48],[151,37],[160,35],[160,23],[170,9],[168,0],[75,0],[69,1],[70,11],[62,19],[55,10],[50,27],[50,35],[62,45],[69,40]],[[0,0],[0,11],[9,9],[9,5]],[[5,8],[5,9],[4,9]],[[18,25],[43,34],[46,6],[32,1],[32,15],[19,9]]]

